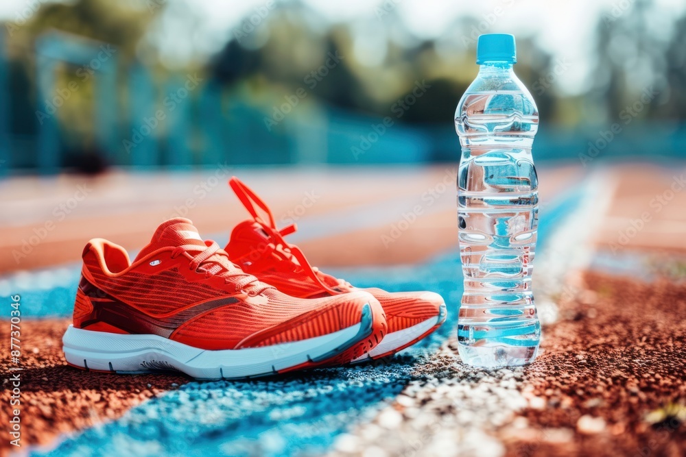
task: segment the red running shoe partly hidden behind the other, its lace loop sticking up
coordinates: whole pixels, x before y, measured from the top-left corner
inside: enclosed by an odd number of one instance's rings
[[[379,300],[386,312],[388,334],[367,354],[352,358],[353,362],[395,354],[431,334],[445,321],[445,302],[437,293],[360,289],[311,267],[303,252],[283,238],[295,232],[296,226],[277,229],[266,203],[246,184],[237,177],[232,177],[229,184],[252,216],[233,229],[225,248],[231,261],[241,269],[294,297],[340,297],[365,291]],[[267,214],[268,221],[257,214],[258,209]]]

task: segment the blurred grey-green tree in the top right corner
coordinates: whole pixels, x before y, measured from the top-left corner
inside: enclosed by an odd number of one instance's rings
[[[590,112],[602,121],[686,118],[686,17],[662,3],[616,2],[596,32]]]

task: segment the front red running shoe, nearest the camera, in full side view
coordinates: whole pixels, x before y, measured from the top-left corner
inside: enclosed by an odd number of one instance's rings
[[[83,260],[62,338],[78,368],[246,378],[349,362],[386,331],[370,294],[289,297],[241,271],[187,219],[160,225],[132,264],[99,238]]]

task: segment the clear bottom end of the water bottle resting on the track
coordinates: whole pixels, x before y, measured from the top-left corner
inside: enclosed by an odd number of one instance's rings
[[[484,345],[468,346],[458,344],[462,362],[472,367],[501,368],[529,365],[539,353],[539,345],[505,346]]]

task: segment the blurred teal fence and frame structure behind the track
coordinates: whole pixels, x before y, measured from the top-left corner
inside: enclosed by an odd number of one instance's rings
[[[0,34],[0,49],[4,39]],[[115,166],[152,169],[213,166],[219,162],[250,165],[459,160],[460,147],[450,116],[445,124],[421,127],[392,119],[392,125],[380,132],[378,126],[383,119],[331,108],[311,98],[308,106],[303,103],[292,108],[292,113],[268,129],[265,119],[271,116],[271,106],[249,104],[232,88],[220,86],[208,75],[201,74],[202,81],[190,86],[193,75],[174,75],[160,82],[159,75],[153,77],[141,63],[121,68],[116,49],[112,51],[109,45],[62,32],[41,36],[35,51],[37,97],[31,112],[47,111],[47,103],[58,99],[60,90],[65,89],[56,87],[58,67],[80,66],[77,77],[85,69],[93,77],[95,90],[93,149],[104,162]],[[35,138],[34,134],[14,132],[17,123],[12,122],[10,113],[18,110],[12,103],[23,103],[24,99],[10,97],[10,87],[16,86],[12,78],[16,76],[8,72],[10,62],[5,55],[0,53],[0,175],[22,169],[57,173],[68,162],[69,152],[65,132],[60,132],[59,113],[53,110],[53,114],[34,116],[35,126],[27,130],[36,132]],[[126,100],[120,102],[117,94],[126,94]],[[587,158],[645,157],[646,151],[651,160],[686,155],[686,127],[678,123],[635,121],[635,125],[622,125],[622,132],[605,142],[603,132],[608,128],[582,125],[552,129],[541,125],[534,156],[536,160],[561,159],[587,165]],[[598,147],[594,149],[594,145]],[[81,157],[76,155],[77,160]]]

